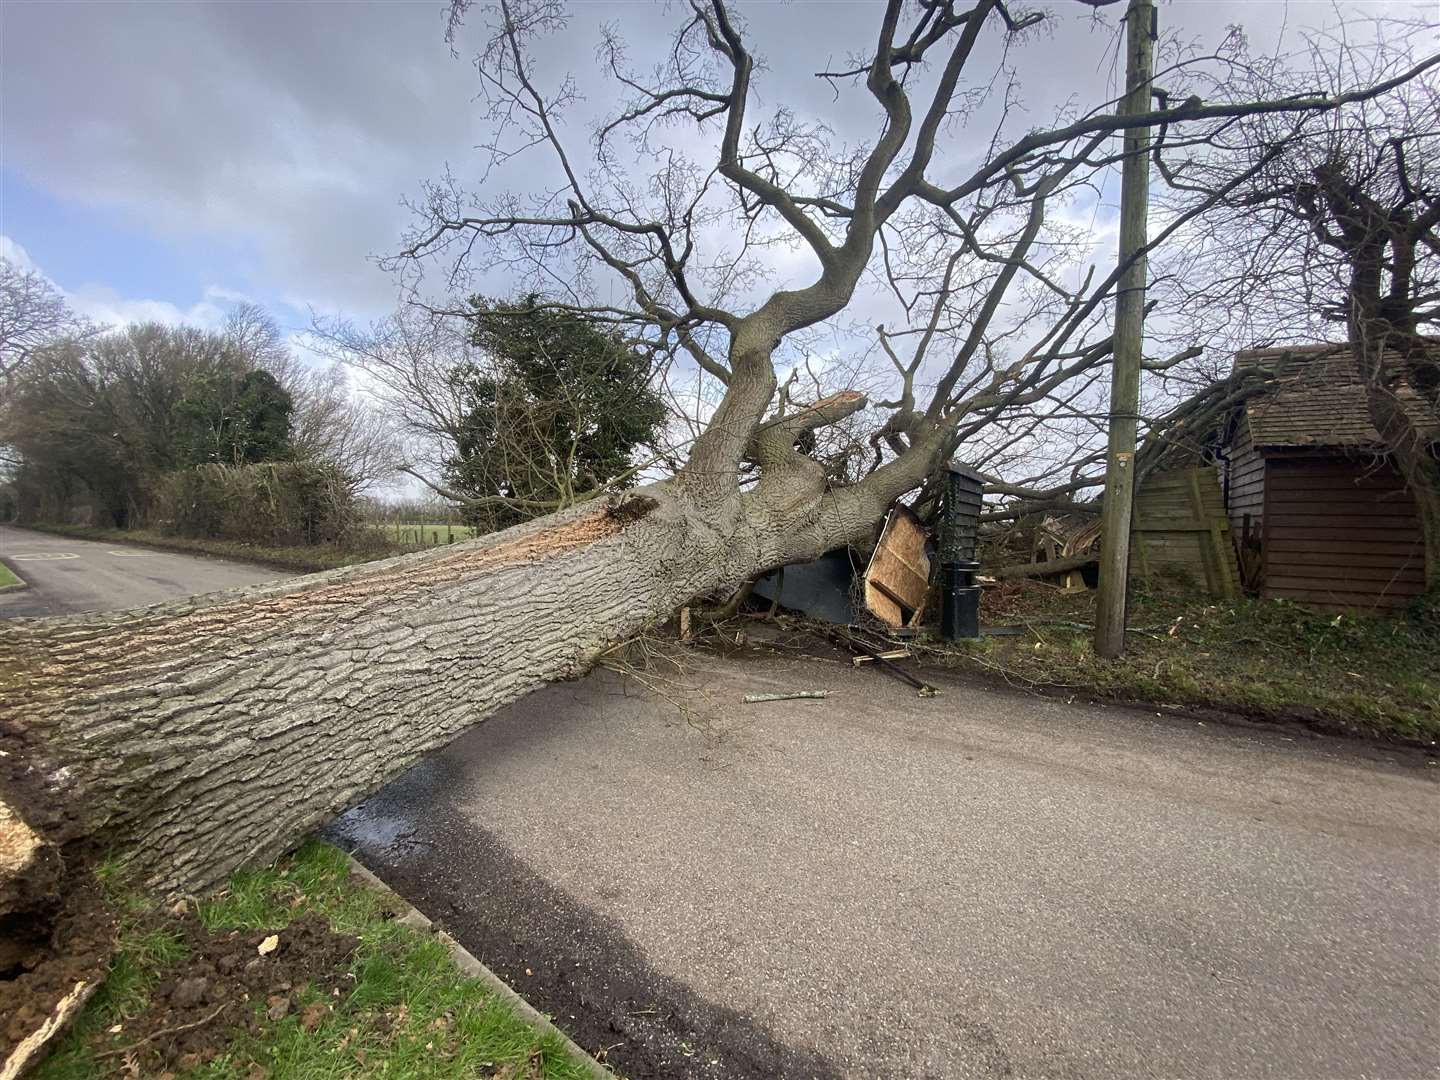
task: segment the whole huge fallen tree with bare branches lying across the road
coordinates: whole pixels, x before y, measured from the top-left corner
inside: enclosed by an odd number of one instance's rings
[[[814,131],[792,120],[747,121],[755,60],[742,29],[720,0],[694,0],[662,72],[668,84],[648,85],[622,69],[622,50],[611,53],[635,96],[600,131],[602,145],[618,127],[651,132],[661,115],[716,135],[711,171],[671,157],[652,187],[655,206],[641,207],[618,179],[596,192],[570,164],[536,86],[528,48],[557,19],[550,4],[503,7],[478,69],[494,115],[553,154],[563,197],[533,207],[497,197],[471,213],[436,186],[400,262],[485,249],[491,266],[546,261],[553,272],[554,252],[572,248],[588,268],[608,269],[625,305],[579,294],[546,302],[609,321],[723,386],[684,468],[626,497],[444,550],[141,611],[6,625],[4,793],[50,854],[75,865],[109,852],[161,893],[213,886],[691,598],[865,539],[958,445],[1015,410],[1071,400],[1103,370],[1120,268],[1064,287],[1063,262],[1044,240],[1047,207],[1123,154],[1116,132],[1153,125],[1166,134],[1152,153],[1184,154],[1237,115],[1299,124],[1436,62],[1345,94],[1187,101],[1140,117],[1119,117],[1107,101],[1020,137],[1002,137],[1007,114],[969,171],[956,180],[946,170],[940,183],[937,137],[958,108],[962,72],[982,42],[998,49],[1040,14],[1015,16],[995,0],[887,6],[870,58],[825,73],[865,88],[878,135],[864,153],[827,160]],[[907,76],[923,60],[936,62],[930,85],[912,101]],[[1169,76],[1181,81],[1181,69]],[[802,245],[814,265],[808,284],[750,298],[740,284],[753,276],[737,278],[733,262],[701,264],[694,252],[723,217],[716,206],[737,226],[727,236],[778,230]],[[891,233],[904,251],[881,258]],[[868,474],[840,484],[804,451],[867,396],[838,390],[791,405],[778,395],[775,361],[789,338],[845,311],[877,264],[913,320],[881,333],[901,383],[881,454]],[[1032,294],[1020,289],[1027,282]],[[1001,333],[1001,312],[1015,317],[1017,304],[1034,328],[1022,348],[1007,350],[1017,331]],[[53,871],[55,860],[32,865]],[[40,919],[40,901],[55,899],[53,887],[0,884],[24,897],[6,913],[12,920]]]

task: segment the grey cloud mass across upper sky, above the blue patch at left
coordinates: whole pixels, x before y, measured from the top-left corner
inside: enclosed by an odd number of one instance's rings
[[[1109,78],[1099,39],[1083,30],[1086,9],[1054,6],[1066,20],[1027,55],[1035,122]],[[814,108],[845,138],[873,135],[873,109],[857,109],[852,95],[834,102],[812,72],[865,49],[877,4],[737,7],[769,60],[759,82],[768,108]],[[1244,22],[1257,43],[1284,20],[1326,17],[1333,12],[1325,4],[1162,6],[1162,19],[1211,39],[1224,23]],[[615,22],[644,68],[677,19],[658,3],[576,7],[573,33],[547,45],[540,72],[550,82],[563,71],[579,79],[586,101],[576,127],[615,98],[596,71],[595,27]],[[12,1],[3,22],[9,167],[160,230],[253,243],[266,285],[323,307],[386,305],[392,285],[366,256],[395,249],[409,222],[402,194],[446,163],[461,177],[478,167],[477,78],[442,39],[441,3]],[[677,130],[674,138],[690,135]],[[528,179],[521,170],[508,183]]]

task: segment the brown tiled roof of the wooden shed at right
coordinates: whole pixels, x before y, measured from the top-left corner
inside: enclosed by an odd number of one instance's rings
[[[1277,389],[1246,405],[1257,446],[1380,445],[1346,346],[1251,348],[1236,354],[1236,367],[1263,367],[1280,380]],[[1400,384],[1395,393],[1420,429],[1440,439],[1440,409],[1408,384]]]

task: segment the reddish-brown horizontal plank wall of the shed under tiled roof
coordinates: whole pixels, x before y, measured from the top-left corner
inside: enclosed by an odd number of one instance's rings
[[[1403,608],[1424,590],[1416,504],[1390,465],[1267,458],[1267,598],[1329,608]]]

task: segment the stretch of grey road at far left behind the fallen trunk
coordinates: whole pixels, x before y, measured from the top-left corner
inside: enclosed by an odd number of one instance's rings
[[[72,540],[0,526],[0,560],[29,585],[0,592],[0,618],[140,608],[288,577],[253,563]]]

